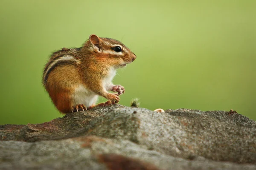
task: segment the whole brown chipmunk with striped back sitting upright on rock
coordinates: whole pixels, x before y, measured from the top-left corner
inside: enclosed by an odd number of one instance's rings
[[[111,105],[125,93],[122,85],[111,82],[116,69],[135,59],[122,42],[92,34],[81,48],[62,48],[51,55],[44,67],[43,85],[61,113]],[[108,101],[96,105],[98,96]]]

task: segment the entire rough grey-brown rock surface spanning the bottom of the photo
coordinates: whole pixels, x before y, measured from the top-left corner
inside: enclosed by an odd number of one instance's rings
[[[0,126],[0,169],[256,169],[256,122],[234,111],[121,105]]]

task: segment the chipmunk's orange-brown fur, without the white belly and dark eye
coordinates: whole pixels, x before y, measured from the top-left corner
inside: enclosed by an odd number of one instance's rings
[[[111,67],[118,68],[124,62],[130,63],[136,58],[133,52],[117,40],[91,36],[93,37],[89,38],[81,48],[62,48],[54,52],[45,65],[44,87],[56,108],[62,113],[70,113],[74,105],[83,104],[74,103],[71,97],[79,85],[84,85],[106,99],[119,99],[117,94],[108,93],[102,87],[102,80],[108,76]],[[111,52],[113,45],[123,47],[122,55]],[[67,56],[71,56],[72,59],[59,60]],[[94,104],[88,108],[107,104],[109,102]]]

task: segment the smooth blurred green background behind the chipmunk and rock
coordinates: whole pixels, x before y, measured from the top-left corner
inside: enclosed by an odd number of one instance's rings
[[[151,110],[233,109],[256,120],[255,9],[255,0],[1,0],[0,124],[63,116],[42,70],[52,51],[90,34],[137,55],[114,78],[125,87],[120,104],[139,97]]]

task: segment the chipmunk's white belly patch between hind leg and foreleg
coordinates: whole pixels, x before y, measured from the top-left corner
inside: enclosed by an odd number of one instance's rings
[[[85,88],[83,85],[79,85],[73,93],[73,99],[73,105],[84,104],[86,107],[89,107],[97,102],[98,95]]]

